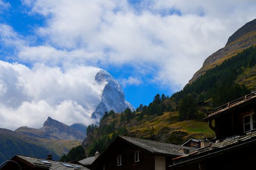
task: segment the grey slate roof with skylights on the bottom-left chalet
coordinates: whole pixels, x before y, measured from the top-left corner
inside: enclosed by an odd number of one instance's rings
[[[48,168],[51,170],[88,170],[88,168],[74,163],[58,162],[53,160],[33,158],[22,155],[16,155],[12,158],[12,160],[18,160],[33,167]]]

